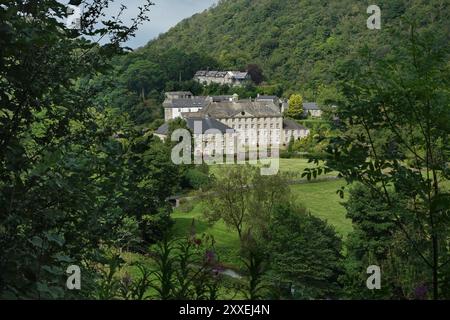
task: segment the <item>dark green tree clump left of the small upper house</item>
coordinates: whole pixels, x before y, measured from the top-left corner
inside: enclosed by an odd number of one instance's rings
[[[204,54],[175,48],[152,53],[138,50],[116,57],[109,72],[94,83],[101,90],[101,103],[128,113],[135,124],[145,126],[162,118],[164,91],[200,95],[202,86],[192,80],[195,72],[216,66]]]

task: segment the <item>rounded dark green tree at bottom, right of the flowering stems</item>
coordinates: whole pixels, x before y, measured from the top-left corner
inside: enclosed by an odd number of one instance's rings
[[[322,220],[292,204],[277,206],[265,252],[277,298],[331,298],[338,292],[341,240]]]

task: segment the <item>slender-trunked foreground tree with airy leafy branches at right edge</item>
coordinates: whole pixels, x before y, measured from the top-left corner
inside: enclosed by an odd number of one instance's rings
[[[366,49],[339,69],[348,102],[338,109],[342,125],[326,166],[382,200],[439,299],[450,262],[447,34],[434,25],[418,32],[414,22],[388,34],[396,43],[388,54]],[[397,198],[404,199],[403,214]]]

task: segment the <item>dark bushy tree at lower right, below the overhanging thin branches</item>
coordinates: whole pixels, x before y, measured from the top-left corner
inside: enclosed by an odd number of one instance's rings
[[[402,216],[413,213],[408,212],[404,196],[390,193],[398,204],[396,208],[387,206],[364,185],[355,184],[349,192],[345,207],[353,231],[345,242],[345,275],[340,279],[347,298],[424,299],[429,295],[426,265],[414,254],[414,248],[392,219],[394,210]],[[412,225],[408,227],[418,238],[420,230],[414,230]],[[383,270],[380,290],[366,289],[367,274],[362,271],[370,265]],[[424,290],[419,294],[420,288]]]

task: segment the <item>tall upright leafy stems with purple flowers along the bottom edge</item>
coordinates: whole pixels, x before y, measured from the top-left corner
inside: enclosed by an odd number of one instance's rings
[[[97,269],[94,297],[102,300],[216,300],[222,286],[214,240],[206,235],[165,238],[143,261],[126,263],[113,252]]]

